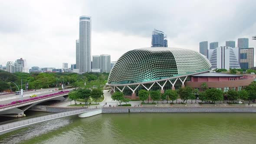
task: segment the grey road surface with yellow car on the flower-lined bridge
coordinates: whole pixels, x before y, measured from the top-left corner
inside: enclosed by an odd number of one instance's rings
[[[69,89],[65,89],[63,91],[70,91],[74,88],[69,88]],[[44,89],[46,90],[46,89]],[[52,91],[54,90],[54,91]],[[30,95],[37,95],[37,96],[42,96],[42,95],[49,95],[49,94],[52,94],[52,93],[56,93],[56,92],[60,92],[61,90],[55,90],[53,88],[48,88],[48,90],[46,91],[41,91],[41,92],[38,92],[37,90],[36,91],[33,91],[33,92],[30,92],[30,93],[26,93],[26,95],[23,95],[23,98],[20,97],[20,95],[15,95],[15,96],[11,96],[11,97],[7,97],[7,98],[1,98],[0,99],[0,104],[8,104],[12,101],[18,101],[18,100],[23,100],[23,99],[27,99],[27,98],[30,98]]]

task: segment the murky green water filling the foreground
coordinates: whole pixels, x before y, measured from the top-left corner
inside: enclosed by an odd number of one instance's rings
[[[256,114],[143,113],[71,116],[0,136],[2,144],[256,144]]]

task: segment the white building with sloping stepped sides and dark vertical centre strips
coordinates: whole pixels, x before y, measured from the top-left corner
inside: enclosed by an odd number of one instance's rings
[[[209,49],[208,56],[212,69],[240,69],[238,48],[221,46]]]

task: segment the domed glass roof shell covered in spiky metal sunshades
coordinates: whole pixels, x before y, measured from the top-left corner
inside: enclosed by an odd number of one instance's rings
[[[113,66],[108,84],[133,84],[209,71],[208,59],[189,49],[141,48],[126,52]]]

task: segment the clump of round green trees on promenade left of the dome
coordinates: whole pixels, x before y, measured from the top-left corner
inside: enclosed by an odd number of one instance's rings
[[[99,88],[93,88],[91,89],[87,89],[87,88],[79,88],[77,90],[74,90],[72,92],[69,92],[69,99],[74,100],[75,101],[75,105],[76,105],[76,100],[78,99],[82,99],[83,101],[85,101],[85,105],[88,105],[88,101],[90,98],[93,98],[97,104],[97,101],[99,98],[101,98],[103,95],[102,89]]]

